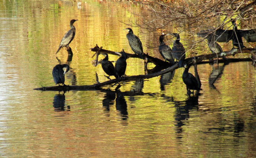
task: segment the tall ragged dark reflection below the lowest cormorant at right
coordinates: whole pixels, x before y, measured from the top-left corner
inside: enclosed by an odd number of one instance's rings
[[[197,108],[198,105],[198,95],[194,95],[193,97],[188,96],[187,100],[185,101],[174,101],[175,102],[175,108],[176,108],[176,114],[174,115],[175,121],[177,124],[175,124],[175,130],[178,136],[176,138],[181,139],[183,132],[182,126],[185,125],[184,120],[189,119],[189,111]],[[185,103],[185,104],[184,104]]]

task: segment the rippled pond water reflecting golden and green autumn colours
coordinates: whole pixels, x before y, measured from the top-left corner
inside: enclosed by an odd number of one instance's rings
[[[106,81],[101,65],[92,65],[89,48],[98,44],[132,53],[123,29],[138,17],[124,7],[147,14],[129,3],[0,2],[1,157],[256,157],[251,62],[198,65],[203,90],[195,96],[186,95],[184,68],[121,82],[118,90],[117,85],[66,93],[33,90],[55,85],[52,68],[60,63],[70,65],[65,84],[94,84],[96,73]],[[64,48],[55,55],[71,19],[79,20],[69,45],[72,60]],[[159,33],[133,31],[144,52],[163,59],[157,48],[147,47],[158,43]],[[213,71],[222,72],[215,87],[209,85]],[[189,72],[194,74],[193,67]],[[145,74],[144,61],[129,58],[125,74]]]

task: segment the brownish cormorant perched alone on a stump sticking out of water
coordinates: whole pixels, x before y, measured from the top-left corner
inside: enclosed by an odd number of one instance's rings
[[[75,23],[75,21],[77,21],[77,20],[73,19],[73,20],[70,21],[70,28],[71,29],[68,30],[68,32],[62,38],[62,40],[60,42],[59,49],[57,50],[56,54],[59,52],[60,48],[68,46],[69,43],[74,39],[75,34],[76,34],[76,28],[75,28],[75,26],[73,26],[73,23]]]

